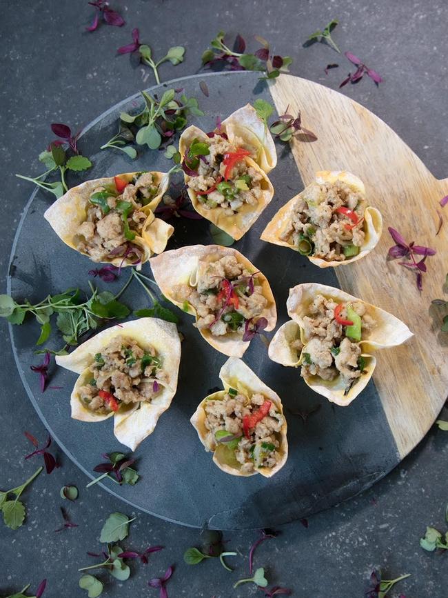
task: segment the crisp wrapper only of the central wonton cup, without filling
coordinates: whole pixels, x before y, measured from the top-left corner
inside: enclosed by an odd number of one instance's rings
[[[192,245],[180,249],[165,251],[163,254],[150,259],[152,273],[156,283],[165,297],[174,305],[183,309],[183,301],[176,301],[173,288],[176,285],[185,283],[190,286],[196,286],[197,273],[200,261],[216,261],[225,255],[234,255],[239,263],[242,263],[250,272],[258,272],[256,277],[263,286],[263,295],[268,300],[265,310],[259,317],[267,319],[265,330],[273,330],[277,321],[277,310],[274,295],[267,278],[260,272],[246,257],[239,251],[231,247],[221,247],[220,245]],[[196,310],[192,305],[188,305],[187,313],[194,315],[198,320]],[[250,341],[243,341],[242,335],[238,332],[228,332],[223,336],[214,336],[207,329],[199,329],[201,336],[210,343],[212,347],[224,355],[242,357],[245,350],[249,347]]]

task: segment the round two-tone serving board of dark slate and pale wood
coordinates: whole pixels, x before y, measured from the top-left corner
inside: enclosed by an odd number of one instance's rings
[[[207,82],[204,97],[199,82]],[[278,144],[278,166],[269,177],[275,188],[272,203],[234,247],[269,279],[277,301],[278,325],[287,318],[289,288],[315,281],[374,303],[398,316],[414,332],[405,346],[376,354],[378,365],[365,391],[347,408],[338,408],[314,394],[298,370],[270,361],[260,339],[252,341],[244,360],[281,396],[288,420],[289,459],[272,479],[226,475],[212,463],[190,425],[190,416],[210,390],[219,385],[218,371],[227,359],[201,339],[192,318],[179,311],[179,329],[185,335],[179,390],[170,410],[154,433],[136,451],[141,480],[134,487],[106,482],[104,487],[130,504],[158,517],[190,526],[254,528],[276,526],[332,506],[374,484],[424,437],[447,397],[447,339],[440,328],[440,313],[430,308],[442,292],[447,270],[448,228],[435,236],[438,201],[448,194],[448,179],[436,180],[424,164],[383,121],[350,100],[316,83],[282,75],[269,87],[258,74],[236,72],[199,75],[177,80],[187,96],[197,97],[205,116],[193,122],[212,130],[216,117],[226,117],[247,102],[261,97],[272,101],[278,114],[302,111],[303,124],[313,130],[314,142],[294,139]],[[157,92],[157,88],[150,90]],[[130,170],[167,170],[163,152],[146,150],[132,161],[122,152],[100,151],[116,132],[121,110],[132,110],[134,96],[96,119],[80,141],[94,167],[89,178]],[[261,231],[276,210],[314,178],[316,170],[346,169],[360,177],[367,197],[385,224],[383,238],[365,259],[333,270],[320,270],[287,248],[260,241]],[[42,299],[70,286],[88,289],[92,263],[74,252],[43,219],[52,198],[34,193],[21,220],[11,256],[8,292],[17,299]],[[212,243],[207,221],[176,219],[168,248]],[[436,248],[428,262],[423,290],[415,275],[386,259],[392,241],[387,226],[398,228],[406,239]],[[445,263],[444,263],[445,259]],[[150,272],[149,266],[143,272]],[[126,279],[104,290],[119,289]],[[147,305],[141,288],[133,285],[123,301],[137,309]],[[11,327],[17,366],[28,395],[45,426],[63,450],[92,477],[103,452],[123,450],[114,439],[112,423],[83,423],[70,419],[70,392],[76,375],[53,368],[51,386],[39,391],[30,364],[39,333],[34,323]],[[268,335],[271,337],[272,335]],[[446,335],[445,335],[446,336]],[[59,348],[57,334],[49,345]],[[298,412],[321,408],[304,423]]]

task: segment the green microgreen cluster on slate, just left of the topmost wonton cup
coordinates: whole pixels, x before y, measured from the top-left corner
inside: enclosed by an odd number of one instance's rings
[[[156,150],[162,143],[169,141],[176,132],[185,128],[190,114],[203,116],[204,113],[199,110],[195,98],[187,98],[185,94],[176,97],[176,93],[174,89],[166,90],[159,100],[156,96],[152,97],[142,91],[145,101],[143,110],[137,114],[121,112],[119,134],[104,143],[101,149],[114,147],[126,151],[123,147],[125,141],[135,139],[140,146],[147,145],[150,150]],[[129,133],[126,133],[126,130],[129,130]],[[135,157],[133,152],[132,155],[128,151],[126,153],[130,157]]]

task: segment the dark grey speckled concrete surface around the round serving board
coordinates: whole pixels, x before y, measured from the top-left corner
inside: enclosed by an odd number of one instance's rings
[[[151,77],[143,82],[141,69],[132,70],[128,57],[115,55],[116,48],[130,42],[135,26],[156,57],[172,45],[187,48],[181,65],[161,67],[162,81],[197,72],[202,51],[222,28],[230,36],[240,32],[253,49],[257,46],[251,45],[252,34],[266,37],[276,52],[294,58],[292,73],[336,89],[349,72],[349,63],[323,44],[305,50],[302,43],[316,28],[338,18],[334,39],[341,50],[351,50],[385,79],[376,88],[365,78],[343,92],[389,123],[434,175],[448,176],[445,2],[114,0],[111,4],[121,9],[126,25],[103,25],[90,34],[84,29],[93,14],[87,2],[1,3],[0,157],[6,181],[0,221],[2,289],[14,230],[32,190],[15,179],[14,172],[41,172],[37,155],[52,139],[50,123],[81,127],[116,101],[151,84]],[[326,76],[323,68],[332,62],[340,68]],[[4,339],[0,487],[6,489],[20,484],[40,464],[39,457],[23,461],[29,450],[23,430],[39,439],[45,437],[45,430],[21,387],[8,330],[3,321],[0,325]],[[301,598],[362,597],[375,565],[383,567],[387,579],[412,574],[391,596],[446,597],[446,557],[422,551],[418,539],[427,525],[446,529],[447,439],[446,433],[431,430],[412,455],[371,490],[311,517],[308,528],[299,522],[283,527],[277,539],[259,548],[256,566],[267,568],[272,585],[293,588],[294,596]],[[99,550],[103,520],[114,510],[134,516],[101,489],[85,490],[85,476],[63,455],[59,457],[62,467],[50,476],[41,474],[24,493],[28,517],[23,527],[12,531],[0,526],[1,595],[17,592],[28,582],[35,591],[46,577],[45,598],[85,596],[77,586],[77,568],[91,564],[87,550]],[[75,484],[80,490],[78,501],[64,504],[79,527],[55,534],[61,526],[59,489],[64,484]],[[105,581],[104,595],[157,596],[158,590],[147,588],[147,580],[162,575],[170,564],[175,564],[167,586],[170,598],[263,595],[252,584],[232,590],[236,579],[246,577],[247,553],[256,532],[226,532],[227,549],[241,552],[232,559],[235,572],[227,573],[217,561],[195,567],[183,564],[185,548],[198,545],[196,530],[135,515],[123,546],[142,550],[162,544],[165,550],[152,555],[146,566],[132,561],[131,578],[123,584],[99,572]]]

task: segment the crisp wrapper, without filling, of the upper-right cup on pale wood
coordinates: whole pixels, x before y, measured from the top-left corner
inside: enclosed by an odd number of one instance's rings
[[[359,192],[365,197],[365,186],[363,181],[345,170],[321,170],[320,172],[316,172],[315,180],[316,183],[334,183],[337,180],[343,181],[343,183],[346,183],[354,191]],[[283,208],[278,210],[274,218],[267,224],[265,230],[263,230],[260,237],[262,241],[268,241],[269,243],[274,243],[274,245],[281,245],[289,247],[294,251],[298,251],[297,246],[293,245],[292,241],[283,241],[281,239],[281,233],[285,230],[287,223],[292,220],[294,208],[302,195],[303,192],[299,193],[290,199]],[[367,201],[365,203],[367,206]],[[372,208],[371,206],[365,208],[363,230],[365,231],[365,239],[363,245],[360,246],[358,255],[347,257],[343,261],[328,261],[320,257],[314,257],[313,255],[308,255],[307,258],[319,268],[329,268],[330,266],[343,266],[346,263],[352,263],[365,257],[365,255],[374,249],[383,232],[383,217],[376,208]]]

